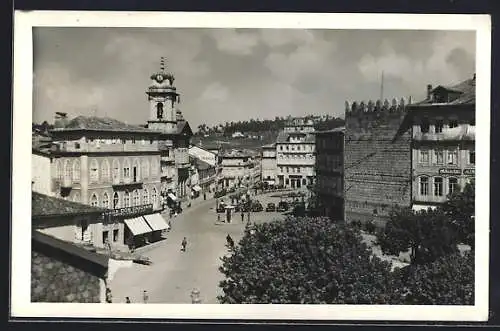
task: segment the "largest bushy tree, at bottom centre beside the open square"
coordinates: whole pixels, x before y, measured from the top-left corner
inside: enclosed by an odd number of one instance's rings
[[[384,304],[399,298],[390,265],[360,233],[327,218],[247,227],[222,258],[221,303]]]

